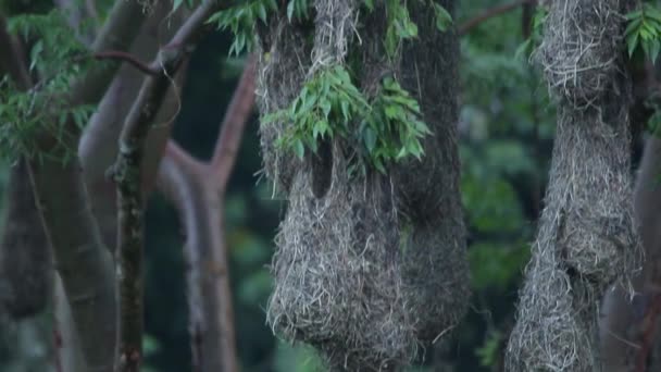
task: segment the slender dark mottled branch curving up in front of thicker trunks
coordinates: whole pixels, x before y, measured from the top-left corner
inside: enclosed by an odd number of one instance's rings
[[[222,9],[220,1],[207,1],[182,25],[172,40],[161,48],[150,70],[159,71],[146,78],[120,136],[120,152],[112,168],[117,184],[119,234],[116,256],[120,289],[120,354],[116,369],[138,372],[142,361],[142,249],[144,249],[144,176],[147,134],[161,107],[170,80],[185,58],[209,29],[207,20]]]

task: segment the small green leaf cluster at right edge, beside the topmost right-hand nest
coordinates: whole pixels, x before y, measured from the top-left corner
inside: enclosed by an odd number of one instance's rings
[[[643,49],[653,63],[661,51],[661,11],[644,3],[639,9],[626,14],[627,26],[624,32],[628,55]]]

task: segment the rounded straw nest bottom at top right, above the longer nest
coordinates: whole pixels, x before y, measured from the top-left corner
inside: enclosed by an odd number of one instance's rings
[[[622,46],[620,0],[549,1],[536,54],[549,88],[575,108],[611,90]]]

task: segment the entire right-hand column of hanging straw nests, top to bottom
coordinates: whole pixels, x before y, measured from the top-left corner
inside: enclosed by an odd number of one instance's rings
[[[608,61],[612,66],[585,69],[589,73],[575,74],[570,90],[556,91],[558,131],[547,207],[508,345],[508,371],[599,370],[599,302],[613,283],[628,285],[641,262],[629,172],[629,87],[627,77],[615,73],[619,61],[610,60],[619,55],[612,40],[620,38],[612,33],[621,23],[612,18],[614,25],[607,25],[606,18],[595,18],[595,14],[612,16],[619,7],[618,1],[557,1],[551,5],[542,49],[556,46],[558,55],[573,55],[575,42],[584,39],[570,37],[577,33],[572,27],[581,25],[590,35],[602,27],[603,50],[591,41],[584,50],[594,57],[593,62],[603,55],[600,65]],[[586,17],[585,23],[581,16]],[[551,87],[560,86],[557,76],[547,74]],[[576,106],[578,96],[589,106]]]

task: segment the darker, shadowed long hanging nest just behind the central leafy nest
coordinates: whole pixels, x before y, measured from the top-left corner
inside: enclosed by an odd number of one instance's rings
[[[442,5],[451,10],[452,3]],[[459,45],[453,32],[437,32],[424,4],[410,8],[420,37],[404,45],[399,77],[419,99],[433,135],[423,141],[421,161],[395,168],[394,183],[411,227],[403,248],[404,294],[419,337],[431,342],[459,323],[470,299],[457,145]]]

